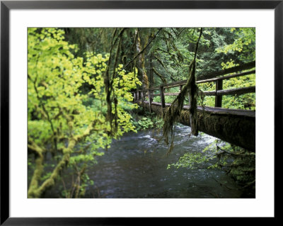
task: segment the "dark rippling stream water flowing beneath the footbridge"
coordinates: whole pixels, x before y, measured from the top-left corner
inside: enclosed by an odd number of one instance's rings
[[[187,152],[202,152],[216,138],[205,135],[189,137],[190,128],[178,125],[174,149],[166,156],[168,146],[158,142],[160,132],[129,132],[113,140],[88,176],[94,181],[85,198],[241,198],[236,183],[221,169],[172,167]],[[45,198],[56,198],[56,190]]]

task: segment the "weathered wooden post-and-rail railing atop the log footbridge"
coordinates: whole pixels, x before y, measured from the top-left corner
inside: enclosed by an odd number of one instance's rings
[[[226,79],[231,79],[235,77],[242,77],[246,76],[248,74],[255,74],[255,62],[249,62],[247,64],[242,64],[237,67],[231,67],[229,69],[224,69],[219,72],[214,72],[211,74],[206,74],[199,79],[197,79],[196,84],[202,84],[202,83],[209,83],[214,82],[216,84],[216,88],[214,91],[204,91],[202,94],[204,96],[215,96],[215,104],[214,107],[221,108],[222,106],[222,96],[225,95],[233,95],[233,94],[249,94],[249,93],[255,93],[255,86],[249,86],[249,87],[241,87],[241,88],[235,88],[235,89],[223,89],[223,81]],[[248,70],[250,69],[250,70]],[[243,70],[248,70],[247,72],[242,72]],[[238,73],[236,73],[238,72]],[[236,74],[232,74],[236,73]],[[229,74],[229,75],[226,75]],[[225,76],[226,75],[226,76]],[[222,76],[222,77],[219,77]],[[180,92],[165,92],[166,89],[171,89],[173,87],[180,87],[180,91],[182,90],[182,87],[187,83],[187,79],[182,81],[175,81],[170,84],[162,84],[161,86],[156,86],[150,89],[138,89],[137,91],[133,92],[134,95],[134,101],[145,101],[145,98],[149,98],[149,111],[151,112],[151,102],[152,98],[154,96],[160,96],[161,97],[161,106],[162,108],[166,107],[166,101],[165,96],[178,96]],[[158,90],[159,94],[154,94],[153,92]],[[189,100],[190,102],[190,100]],[[190,103],[189,103],[190,104]]]

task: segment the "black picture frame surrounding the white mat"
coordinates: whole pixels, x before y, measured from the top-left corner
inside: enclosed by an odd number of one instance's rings
[[[160,219],[135,217],[10,217],[9,215],[9,14],[11,9],[274,9],[275,150],[282,139],[283,0],[280,1],[1,1],[1,222],[0,225],[136,225]],[[275,151],[274,150],[274,151]],[[277,154],[275,152],[275,154]],[[276,159],[276,158],[275,158]],[[277,161],[279,158],[277,157]],[[275,166],[277,166],[275,162]],[[276,173],[276,171],[275,171]],[[275,174],[276,177],[276,174]],[[276,185],[276,183],[275,183]],[[275,198],[276,200],[276,198]],[[275,210],[275,217],[277,216]],[[170,223],[174,219],[167,219]],[[206,217],[207,222],[218,221]],[[247,220],[247,219],[246,219]],[[237,221],[236,221],[237,222]]]

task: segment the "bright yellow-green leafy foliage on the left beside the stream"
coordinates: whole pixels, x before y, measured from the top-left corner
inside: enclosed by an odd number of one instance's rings
[[[52,152],[57,161],[64,158],[62,164],[79,167],[82,163],[95,162],[93,156],[102,154],[97,149],[108,147],[112,137],[109,135],[110,125],[105,119],[107,103],[103,77],[109,55],[103,57],[88,52],[84,62],[83,58],[74,57],[72,52],[76,52],[76,48],[76,45],[64,41],[63,30],[28,28],[30,149],[36,152],[33,147],[37,145],[45,152]],[[116,73],[113,89],[117,98],[119,126],[115,138],[135,129],[126,109],[137,108],[129,103],[132,101],[129,91],[140,84],[135,73],[125,72],[122,65],[119,65]],[[92,87],[88,93],[81,91],[86,84]],[[88,101],[93,104],[85,104]],[[67,148],[68,143],[69,147],[74,148]],[[35,153],[35,158],[37,156]],[[54,175],[58,171],[55,171],[56,167],[52,169],[54,178],[58,176]],[[52,175],[50,171],[42,176],[42,184],[54,179],[51,180],[48,175]]]

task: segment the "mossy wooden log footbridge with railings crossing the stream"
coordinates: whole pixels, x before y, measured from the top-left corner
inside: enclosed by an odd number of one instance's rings
[[[255,111],[221,108],[222,96],[224,95],[255,93],[255,86],[223,89],[223,81],[225,79],[242,77],[248,74],[255,74],[255,62],[249,62],[238,67],[224,69],[199,77],[196,81],[197,84],[215,82],[216,89],[203,92],[204,96],[215,96],[215,106],[197,107],[197,125],[200,131],[208,135],[255,152]],[[150,112],[164,115],[166,109],[171,106],[171,103],[166,103],[165,96],[177,96],[179,94],[179,92],[171,93],[166,92],[166,90],[178,86],[181,90],[186,82],[187,80],[176,81],[150,89],[134,91],[134,102]],[[154,96],[160,96],[161,102],[153,102]],[[189,109],[190,103],[183,107],[179,123],[190,126]]]

